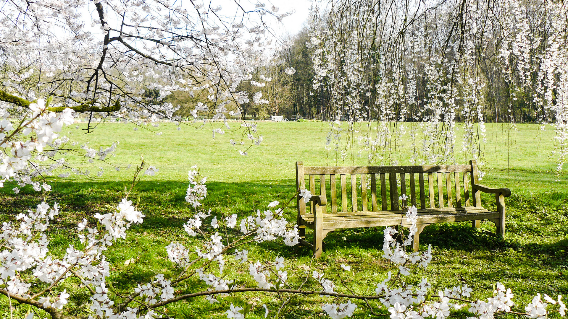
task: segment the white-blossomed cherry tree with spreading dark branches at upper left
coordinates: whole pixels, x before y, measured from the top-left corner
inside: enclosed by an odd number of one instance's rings
[[[0,186],[14,179],[38,191],[41,178],[54,169],[86,173],[66,166],[63,154],[103,160],[116,148],[118,142],[95,150],[59,137],[62,125],[72,124],[79,113],[87,114],[86,132],[108,115],[138,125],[160,120],[179,125],[181,116],[174,115],[179,106],[166,98],[172,91],[185,92],[201,97],[190,111],[194,122],[201,114],[224,121],[212,128],[215,135],[224,132],[222,125],[229,128],[227,117],[239,116],[245,100],[266,103],[260,91],[243,93],[238,87],[250,82],[262,63],[258,51],[274,39],[269,20],[287,15],[261,4],[245,9],[239,2],[229,4],[236,12],[230,16],[225,12],[231,8],[210,2],[3,1],[1,6]],[[244,128],[248,146],[260,144],[256,125]]]

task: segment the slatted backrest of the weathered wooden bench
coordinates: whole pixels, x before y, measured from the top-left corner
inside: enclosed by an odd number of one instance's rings
[[[402,194],[410,197],[407,205],[418,209],[480,206],[479,191],[471,191],[474,183],[478,183],[475,161],[470,165],[350,167],[296,162],[296,187],[325,196],[327,212],[332,213],[398,211]],[[306,212],[298,196],[298,213]]]

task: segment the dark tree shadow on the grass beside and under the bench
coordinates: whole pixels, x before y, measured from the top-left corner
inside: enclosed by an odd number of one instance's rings
[[[61,215],[57,217],[56,227],[58,229],[70,229],[76,227],[77,223],[83,218],[91,219],[95,213],[107,213],[110,207],[107,204],[118,203],[124,196],[124,187],[130,186],[129,181],[118,182],[65,182],[59,181],[52,183],[53,192],[49,194],[47,202],[52,204],[58,202],[61,205]],[[239,217],[250,215],[267,208],[267,205],[274,200],[284,204],[290,200],[295,192],[295,181],[293,179],[283,179],[274,181],[251,181],[241,183],[208,182],[208,196],[203,200],[203,207],[212,209],[215,215],[232,215],[236,213]],[[194,215],[194,208],[185,202],[187,183],[177,181],[166,182],[140,182],[131,193],[130,198],[133,202],[139,202],[139,209],[145,215],[144,224],[137,225],[138,232],[156,230],[160,232],[170,232],[173,234],[183,233],[182,225],[189,217]],[[14,215],[35,207],[43,200],[40,193],[24,188],[20,194],[10,194],[11,186],[6,183],[4,188],[0,188],[0,221],[10,219],[9,215]],[[507,199],[509,207],[517,210],[527,207],[540,207],[547,204],[556,207],[565,205],[567,191],[554,190],[543,191],[533,199],[512,196]],[[490,204],[490,199],[486,199]],[[484,200],[485,202],[485,200]],[[536,209],[536,208],[535,208]],[[540,209],[540,208],[538,208]],[[291,222],[296,219],[295,200],[292,200],[289,207],[285,209],[285,216]],[[519,214],[517,214],[519,215]],[[550,223],[555,223],[558,215],[551,216]],[[523,223],[517,223],[515,218],[522,219]],[[517,232],[523,228],[527,233],[536,232],[531,228],[530,219],[541,221],[542,216],[535,216],[532,213],[523,213],[518,217],[514,214],[508,215],[513,229]],[[529,220],[527,220],[529,219]],[[207,227],[209,225],[204,225]],[[325,238],[325,250],[337,249],[382,249],[384,227],[375,228],[356,228],[342,229],[331,232]],[[308,230],[308,233],[311,233]],[[308,236],[311,236],[308,235]],[[429,225],[424,229],[420,236],[421,248],[425,249],[428,244],[442,249],[456,249],[472,251],[477,249],[502,249],[507,247],[507,240],[492,236],[479,229],[471,228],[467,223],[444,223]],[[542,244],[541,247],[534,247],[540,253],[551,254],[558,257],[558,251],[567,251],[566,240],[557,244]],[[266,242],[262,248],[277,251],[284,257],[296,257],[298,255],[310,254],[310,250],[304,247],[284,247],[281,243]]]

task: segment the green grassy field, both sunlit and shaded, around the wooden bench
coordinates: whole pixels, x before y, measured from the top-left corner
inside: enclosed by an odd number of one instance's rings
[[[133,199],[140,199],[139,208],[147,215],[144,224],[132,228],[127,240],[113,245],[107,254],[116,270],[111,280],[119,289],[133,282],[146,282],[153,271],[172,274],[164,246],[170,241],[191,245],[182,228],[192,215],[184,200],[187,170],[191,166],[199,165],[202,175],[208,176],[205,207],[211,207],[216,214],[246,216],[273,200],[285,202],[294,195],[295,161],[306,165],[333,165],[324,144],[328,123],[259,123],[264,142],[250,148],[248,156],[240,156],[238,148],[228,142],[230,138],[240,140],[242,131],[216,135],[213,140],[209,126],[195,129],[182,125],[179,132],[171,124],[153,128],[155,132],[163,132],[161,136],[132,128],[130,124],[102,123],[90,135],[82,135],[81,129],[65,132],[73,141],[88,140],[97,148],[120,141],[116,157],[110,159],[114,165],[134,165],[143,155],[145,161],[160,169],[155,177],[144,177],[131,195]],[[504,129],[504,125],[487,124],[486,165],[483,167],[487,175],[483,183],[509,187],[513,193],[506,199],[506,239],[484,232],[494,230],[490,223],[482,223],[482,229],[472,229],[469,223],[427,226],[420,236],[420,244],[423,249],[428,244],[433,245],[433,261],[427,270],[420,271],[411,280],[425,276],[430,282],[440,281],[442,287],[450,288],[467,283],[474,291],[489,291],[495,282],[501,282],[512,288],[517,303],[526,302],[536,292],[568,293],[568,174],[561,174],[561,180],[555,181],[556,164],[549,158],[554,136],[552,128],[540,131],[537,125],[519,125],[518,129],[511,132]],[[404,142],[401,145],[400,163],[408,164],[410,147]],[[117,203],[123,197],[124,186],[133,173],[132,169],[116,171],[105,163],[90,164],[71,157],[69,160],[77,161],[75,165],[86,167],[94,174],[101,166],[105,173],[101,178],[72,175],[51,181],[53,192],[48,202],[56,201],[62,206],[50,244],[54,253],[61,253],[69,244],[77,242],[70,234],[74,233],[72,228],[78,221],[83,217],[91,219],[95,212],[105,212],[104,204]],[[462,162],[466,163],[467,158]],[[360,159],[354,164],[366,163]],[[0,188],[0,222],[42,200],[42,196],[25,188],[14,195],[11,188],[8,183]],[[482,201],[484,206],[493,205],[489,196]],[[286,216],[294,220],[295,207],[288,208]],[[332,274],[341,263],[350,265],[354,272],[348,285],[356,292],[372,293],[375,283],[381,282],[386,272],[394,268],[381,258],[382,236],[380,228],[332,232],[325,239],[323,257],[315,262],[314,269]],[[290,261],[289,269],[309,263],[311,256],[306,247],[278,243],[247,249],[251,251],[251,261],[281,255]],[[125,266],[124,261],[131,258],[136,262]],[[235,266],[227,262],[226,267]],[[89,304],[86,289],[72,281],[65,284],[68,291],[72,291],[70,313],[85,314],[81,309]],[[184,289],[199,291],[203,287],[195,281]],[[268,304],[274,302],[272,296],[261,293],[227,297],[221,305],[210,305],[198,298],[168,307],[168,313],[175,318],[222,318],[230,303],[242,306],[256,301],[260,305],[260,300]],[[322,300],[320,297],[299,299],[286,317],[319,317],[319,301]],[[1,317],[6,317],[7,305],[8,301],[0,297]],[[363,304],[359,305],[354,317],[369,317]],[[15,313],[22,317],[26,310],[16,307]],[[455,316],[465,318],[467,313]],[[264,310],[255,309],[248,317],[264,317]]]

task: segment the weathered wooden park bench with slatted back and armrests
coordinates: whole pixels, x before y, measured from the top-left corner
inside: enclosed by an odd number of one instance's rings
[[[471,182],[470,182],[471,181]],[[308,183],[308,187],[306,187]],[[436,186],[436,187],[435,187]],[[298,196],[298,226],[303,244],[321,256],[323,239],[335,229],[393,226],[400,224],[399,196],[407,195],[418,208],[418,231],[413,249],[418,250],[424,226],[449,221],[490,220],[497,234],[505,234],[504,197],[508,188],[479,184],[477,163],[437,166],[304,166],[296,162],[296,187],[308,188],[310,203]],[[471,190],[471,195],[470,195]],[[480,192],[495,194],[496,211],[481,206]],[[314,230],[308,243],[306,228]]]

